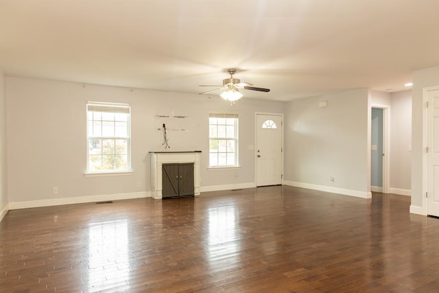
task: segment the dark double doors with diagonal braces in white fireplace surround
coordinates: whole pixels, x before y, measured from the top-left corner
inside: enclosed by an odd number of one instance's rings
[[[193,163],[163,164],[162,172],[163,198],[180,198],[195,194]]]

